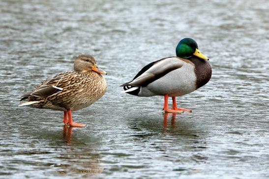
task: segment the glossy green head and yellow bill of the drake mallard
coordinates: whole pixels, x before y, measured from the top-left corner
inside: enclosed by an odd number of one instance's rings
[[[190,56],[197,56],[203,60],[209,60],[207,56],[198,50],[198,45],[195,40],[191,38],[184,38],[179,41],[176,48],[177,56],[180,58],[188,58]]]

